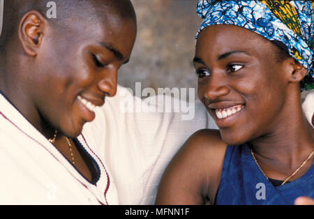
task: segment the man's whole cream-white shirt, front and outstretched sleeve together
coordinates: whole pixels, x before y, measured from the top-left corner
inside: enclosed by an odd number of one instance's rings
[[[90,183],[0,95],[0,204],[154,204],[174,153],[216,125],[200,102],[186,121],[181,112],[123,112],[126,102],[147,106],[119,86],[77,138],[100,172]]]

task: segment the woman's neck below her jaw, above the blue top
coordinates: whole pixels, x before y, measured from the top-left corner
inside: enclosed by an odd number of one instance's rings
[[[289,102],[288,102],[289,103]],[[293,104],[292,104],[293,103]],[[269,133],[248,142],[269,178],[284,179],[303,163],[314,149],[314,130],[295,101],[283,108],[281,118]],[[314,157],[313,157],[314,158]],[[308,160],[304,173],[313,158]]]

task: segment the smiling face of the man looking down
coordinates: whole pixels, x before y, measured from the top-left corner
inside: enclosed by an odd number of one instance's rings
[[[29,84],[36,110],[69,137],[95,119],[94,107],[117,91],[118,70],[133,50],[136,24],[107,15],[105,23],[73,22],[50,28],[36,57]]]

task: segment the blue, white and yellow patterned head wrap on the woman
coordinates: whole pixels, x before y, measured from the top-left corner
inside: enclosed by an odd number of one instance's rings
[[[197,31],[215,24],[244,27],[271,41],[279,41],[308,74],[303,91],[314,89],[314,1],[200,0],[197,14],[203,22]]]

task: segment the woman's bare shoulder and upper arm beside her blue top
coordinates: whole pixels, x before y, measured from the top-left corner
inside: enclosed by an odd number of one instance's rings
[[[156,204],[213,204],[225,149],[217,130],[192,135],[165,170]]]

